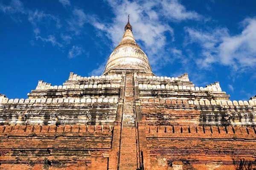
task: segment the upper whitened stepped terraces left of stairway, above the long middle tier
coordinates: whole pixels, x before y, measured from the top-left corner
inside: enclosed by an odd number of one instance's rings
[[[81,77],[70,73],[69,79],[63,85],[38,81],[35,90],[28,94],[32,98],[68,98],[88,96],[118,96],[122,82],[121,75]]]

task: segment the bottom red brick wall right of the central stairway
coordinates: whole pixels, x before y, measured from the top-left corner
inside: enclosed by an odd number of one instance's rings
[[[150,157],[148,169],[175,169],[176,164],[182,165],[183,170],[215,166],[233,170],[241,164],[256,167],[256,133],[252,127],[247,128],[249,134],[246,127],[219,127],[220,133],[218,127],[197,126],[197,132],[195,126],[141,127],[140,134],[146,138],[140,140],[141,150],[148,152],[144,159]]]

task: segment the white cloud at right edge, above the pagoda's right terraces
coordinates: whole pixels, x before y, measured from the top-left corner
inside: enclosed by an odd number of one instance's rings
[[[231,36],[227,28],[217,28],[205,32],[186,28],[189,43],[201,46],[201,56],[198,65],[209,68],[212,63],[228,65],[235,70],[254,68],[256,65],[256,19],[248,18],[242,22],[240,34]]]

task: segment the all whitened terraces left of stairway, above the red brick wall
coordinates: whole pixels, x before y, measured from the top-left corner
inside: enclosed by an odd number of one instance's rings
[[[80,77],[70,73],[63,85],[38,81],[28,99],[0,95],[1,125],[113,124],[121,75]]]

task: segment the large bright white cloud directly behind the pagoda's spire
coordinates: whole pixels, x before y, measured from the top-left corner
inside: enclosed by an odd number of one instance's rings
[[[112,18],[112,22],[101,23],[95,20],[92,22],[92,25],[100,31],[106,32],[107,36],[112,40],[113,46],[115,46],[122,38],[123,29],[126,24],[124,18],[131,14],[134,36],[143,45],[154,70],[160,68],[161,65],[173,61],[166,51],[168,51],[169,44],[174,41],[174,31],[167,24],[166,20],[180,22],[203,18],[195,11],[188,11],[177,0],[107,0],[107,2],[115,15]],[[163,18],[165,20],[162,20]],[[172,39],[167,40],[167,37],[172,37]],[[177,57],[181,57],[177,51],[173,52],[177,54]]]

